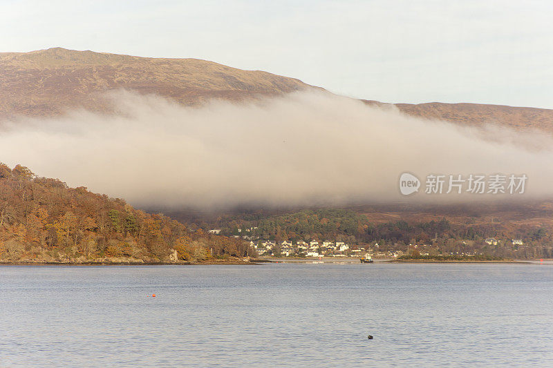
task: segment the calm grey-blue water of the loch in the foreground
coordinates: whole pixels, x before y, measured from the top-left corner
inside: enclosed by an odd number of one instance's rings
[[[4,266],[0,313],[2,367],[553,365],[545,264]]]

